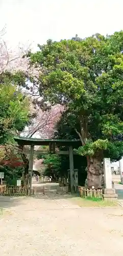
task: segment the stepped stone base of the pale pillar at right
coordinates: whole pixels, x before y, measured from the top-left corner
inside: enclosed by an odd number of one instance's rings
[[[103,198],[107,201],[116,201],[118,196],[116,195],[114,188],[104,188]]]

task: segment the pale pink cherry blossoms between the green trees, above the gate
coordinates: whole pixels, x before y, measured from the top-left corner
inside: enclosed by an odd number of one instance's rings
[[[55,132],[56,122],[59,120],[63,112],[63,106],[57,104],[49,106],[43,101],[39,94],[38,79],[41,73],[46,72],[37,62],[35,65],[30,65],[30,56],[27,53],[30,51],[29,46],[19,46],[18,49],[8,49],[4,40],[6,28],[0,31],[0,75],[6,71],[22,75],[24,77],[24,85],[22,92],[29,96],[32,104],[30,113],[32,122],[29,127],[26,127],[23,133],[17,133],[19,136],[34,137],[40,136],[43,138],[51,138]],[[24,57],[23,57],[24,56]]]

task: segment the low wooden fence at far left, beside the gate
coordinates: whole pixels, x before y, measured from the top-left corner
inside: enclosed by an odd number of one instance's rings
[[[0,186],[1,196],[28,196],[29,189],[27,187],[7,187],[6,185]]]

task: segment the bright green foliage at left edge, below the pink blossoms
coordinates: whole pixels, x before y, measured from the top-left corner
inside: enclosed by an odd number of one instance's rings
[[[13,141],[29,123],[29,100],[10,83],[0,85],[0,144]]]

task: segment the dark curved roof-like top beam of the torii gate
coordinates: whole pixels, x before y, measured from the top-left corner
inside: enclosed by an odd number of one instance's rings
[[[57,146],[80,146],[82,145],[80,140],[62,140],[62,139],[36,139],[26,137],[14,137],[14,140],[21,145],[49,145],[55,143]]]

